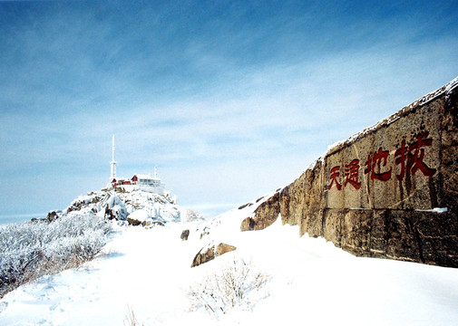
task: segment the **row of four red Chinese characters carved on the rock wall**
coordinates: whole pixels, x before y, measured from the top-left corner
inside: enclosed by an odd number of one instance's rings
[[[429,168],[424,163],[424,148],[430,147],[433,144],[433,139],[428,139],[427,131],[419,133],[411,144],[406,144],[405,140],[401,142],[398,149],[395,150],[395,164],[400,166],[400,172],[395,177],[402,181],[407,173],[414,175],[417,171],[421,171],[425,177],[431,177],[436,172],[435,168]],[[393,167],[388,165],[390,152],[379,148],[373,154],[367,156],[364,165],[364,174],[368,174],[371,180],[379,180],[386,182],[391,179]],[[359,181],[360,170],[359,159],[353,159],[343,168],[344,180],[341,181],[341,167],[336,166],[331,168],[327,189],[331,189],[336,185],[337,190],[342,187],[351,185],[356,190],[361,187]]]

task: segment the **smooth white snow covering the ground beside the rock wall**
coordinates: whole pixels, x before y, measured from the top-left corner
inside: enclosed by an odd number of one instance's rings
[[[458,269],[357,258],[323,239],[299,238],[279,219],[239,232],[255,206],[211,222],[126,227],[92,262],[6,294],[0,325],[122,325],[131,310],[144,325],[458,324]],[[200,239],[206,225],[210,235]],[[184,229],[188,241],[180,239]],[[212,241],[237,250],[190,268]],[[268,274],[263,299],[218,318],[190,312],[190,286],[234,259]]]

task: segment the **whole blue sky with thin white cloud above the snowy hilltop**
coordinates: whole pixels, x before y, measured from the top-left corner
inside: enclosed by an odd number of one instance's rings
[[[118,175],[209,215],[458,75],[458,3],[0,2],[0,215]]]

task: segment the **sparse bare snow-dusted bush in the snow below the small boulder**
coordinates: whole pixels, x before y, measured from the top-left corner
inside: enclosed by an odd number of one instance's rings
[[[204,308],[218,318],[220,313],[227,313],[234,308],[250,309],[254,303],[267,296],[264,291],[267,282],[267,274],[254,270],[244,260],[234,260],[222,271],[190,286],[187,293],[190,310]]]

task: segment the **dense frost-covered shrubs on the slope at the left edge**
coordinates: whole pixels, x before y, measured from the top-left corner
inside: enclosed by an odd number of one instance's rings
[[[52,223],[0,227],[0,298],[44,274],[76,267],[98,254],[112,226],[93,214],[69,214]]]

